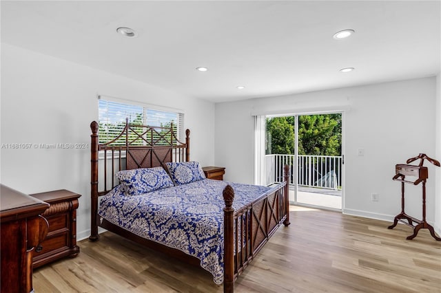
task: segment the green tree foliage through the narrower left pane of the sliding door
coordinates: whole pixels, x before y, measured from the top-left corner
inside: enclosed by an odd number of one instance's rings
[[[267,153],[294,153],[294,127],[287,118],[267,118],[267,134]]]

